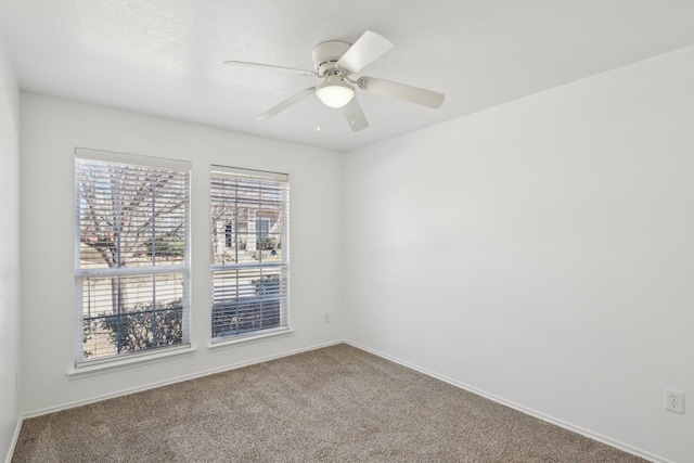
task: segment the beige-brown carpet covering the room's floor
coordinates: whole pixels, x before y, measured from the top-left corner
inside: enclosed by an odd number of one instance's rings
[[[13,462],[643,462],[347,345],[26,420]]]

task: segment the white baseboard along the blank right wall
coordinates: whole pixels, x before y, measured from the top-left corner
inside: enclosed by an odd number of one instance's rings
[[[481,396],[481,397],[484,397],[486,399],[489,399],[491,401],[494,401],[497,403],[501,403],[502,406],[512,408],[512,409],[517,410],[517,411],[519,411],[522,413],[525,413],[527,415],[534,416],[534,417],[536,417],[538,420],[542,420],[544,422],[548,422],[548,423],[554,424],[556,426],[563,427],[564,429],[568,429],[570,432],[580,434],[581,436],[586,436],[586,437],[591,438],[593,440],[597,440],[599,442],[605,443],[605,445],[607,445],[609,447],[614,447],[614,448],[617,448],[619,450],[624,450],[627,453],[631,453],[633,455],[641,456],[642,459],[645,459],[645,460],[648,460],[648,461],[652,461],[652,462],[656,462],[656,463],[674,463],[671,460],[667,460],[667,459],[664,459],[661,456],[654,455],[654,454],[648,453],[648,452],[646,452],[644,450],[637,449],[637,448],[634,448],[632,446],[629,446],[627,443],[620,442],[620,441],[615,440],[615,439],[611,439],[609,437],[593,433],[593,432],[584,429],[584,428],[582,428],[580,426],[576,426],[576,425],[573,425],[570,423],[564,422],[562,420],[557,420],[557,419],[555,419],[553,416],[545,415],[543,413],[540,413],[538,411],[528,409],[528,408],[526,408],[524,406],[520,406],[518,403],[514,403],[514,402],[505,400],[505,399],[503,399],[501,397],[497,397],[493,394],[489,394],[489,393],[486,393],[484,390],[477,389],[476,387],[473,387],[473,386],[471,386],[468,384],[463,384],[463,383],[461,383],[459,381],[455,381],[455,380],[452,380],[450,377],[444,376],[441,374],[435,373],[433,371],[423,369],[423,368],[421,368],[419,365],[415,365],[413,363],[400,360],[400,359],[398,359],[396,357],[393,357],[393,356],[389,356],[387,353],[380,352],[377,350],[374,350],[374,349],[371,349],[369,347],[362,346],[362,345],[360,345],[358,343],[354,343],[354,342],[350,342],[350,340],[345,340],[345,344],[348,344],[348,345],[350,345],[352,347],[356,347],[358,349],[361,349],[361,350],[365,350],[367,352],[373,353],[374,356],[377,356],[377,357],[381,357],[383,359],[389,360],[391,362],[398,363],[398,364],[400,364],[402,366],[407,366],[409,369],[412,369],[414,371],[423,373],[423,374],[425,374],[427,376],[432,376],[432,377],[434,377],[436,380],[440,380],[440,381],[442,381],[445,383],[448,383],[448,384],[450,384],[452,386],[455,386],[455,387],[459,387],[461,389],[467,390],[470,393],[476,394],[478,396]]]

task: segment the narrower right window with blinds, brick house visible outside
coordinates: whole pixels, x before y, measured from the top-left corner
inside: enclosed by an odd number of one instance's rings
[[[288,176],[211,167],[213,342],[288,329]]]

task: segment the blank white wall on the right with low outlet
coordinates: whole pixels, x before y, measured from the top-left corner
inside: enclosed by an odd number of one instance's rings
[[[690,47],[349,153],[347,339],[693,462],[693,124]]]

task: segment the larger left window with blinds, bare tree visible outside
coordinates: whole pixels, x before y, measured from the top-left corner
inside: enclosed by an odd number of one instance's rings
[[[189,344],[190,164],[76,154],[76,362]]]

